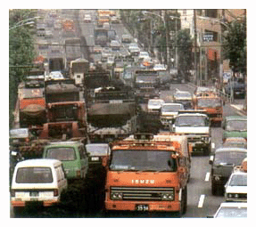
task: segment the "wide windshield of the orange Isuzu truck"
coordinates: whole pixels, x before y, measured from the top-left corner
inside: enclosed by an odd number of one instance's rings
[[[177,170],[172,152],[160,150],[112,150],[110,169],[114,171],[166,171]]]

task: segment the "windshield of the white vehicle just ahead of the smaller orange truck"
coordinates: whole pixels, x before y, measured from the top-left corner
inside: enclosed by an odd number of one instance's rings
[[[204,116],[178,116],[175,126],[207,126]]]

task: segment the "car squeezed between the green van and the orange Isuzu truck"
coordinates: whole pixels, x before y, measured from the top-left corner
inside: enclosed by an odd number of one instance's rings
[[[101,166],[103,158],[107,158],[111,149],[108,143],[88,143],[86,150],[89,153],[89,166]]]

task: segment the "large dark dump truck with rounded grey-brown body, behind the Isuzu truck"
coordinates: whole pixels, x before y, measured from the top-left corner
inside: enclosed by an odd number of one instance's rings
[[[91,142],[111,142],[134,134],[136,102],[131,90],[125,86],[96,88],[87,124]]]

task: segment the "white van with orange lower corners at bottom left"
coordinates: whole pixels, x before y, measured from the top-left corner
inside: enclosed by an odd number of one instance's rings
[[[25,207],[29,203],[48,207],[59,202],[68,183],[62,162],[56,159],[29,159],[19,162],[14,169],[11,204]]]

